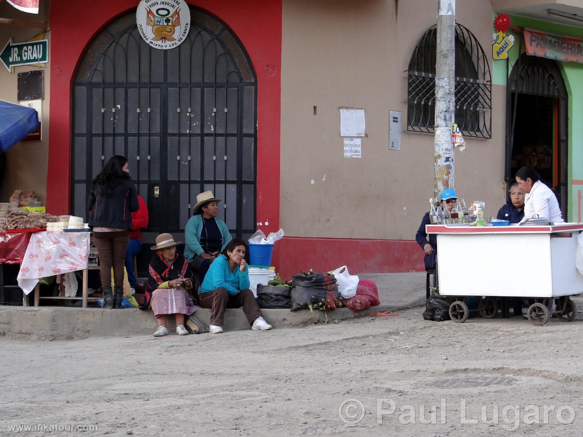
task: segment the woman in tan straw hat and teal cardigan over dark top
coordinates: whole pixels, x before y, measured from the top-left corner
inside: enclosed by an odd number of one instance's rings
[[[196,205],[192,208],[194,216],[188,220],[184,229],[184,257],[192,270],[198,272],[200,284],[205,279],[210,263],[224,251],[232,238],[226,223],[217,218],[217,204],[220,201],[215,199],[212,191],[196,196]]]

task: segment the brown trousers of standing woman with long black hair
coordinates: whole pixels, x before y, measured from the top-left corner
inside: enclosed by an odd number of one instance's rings
[[[93,241],[99,253],[101,287],[111,287],[111,267],[115,286],[124,286],[125,251],[130,233],[131,231],[93,232]]]

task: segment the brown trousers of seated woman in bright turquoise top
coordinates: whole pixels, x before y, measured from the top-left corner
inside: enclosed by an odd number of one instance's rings
[[[198,304],[202,308],[212,310],[210,313],[210,325],[215,326],[223,326],[224,310],[226,308],[241,308],[243,306],[243,312],[247,316],[250,325],[253,325],[255,319],[263,316],[253,292],[248,288],[234,296],[229,296],[229,293],[224,288],[217,288],[208,293],[199,292]]]

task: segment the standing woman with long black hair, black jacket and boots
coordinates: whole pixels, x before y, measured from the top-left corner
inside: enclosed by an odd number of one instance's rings
[[[132,212],[139,208],[138,192],[129,177],[128,160],[113,156],[93,179],[87,202],[89,225],[99,253],[103,308],[120,308],[124,294],[124,260],[132,230]],[[111,291],[113,267],[114,291]]]

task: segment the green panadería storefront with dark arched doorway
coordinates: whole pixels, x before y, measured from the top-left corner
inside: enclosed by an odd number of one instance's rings
[[[583,8],[577,10],[581,21],[578,15],[559,19],[583,26]],[[522,165],[532,165],[557,193],[564,218],[581,222],[583,27],[504,12],[510,16],[507,35],[514,37],[514,45],[507,59],[493,60],[493,83],[507,87],[506,181]]]

